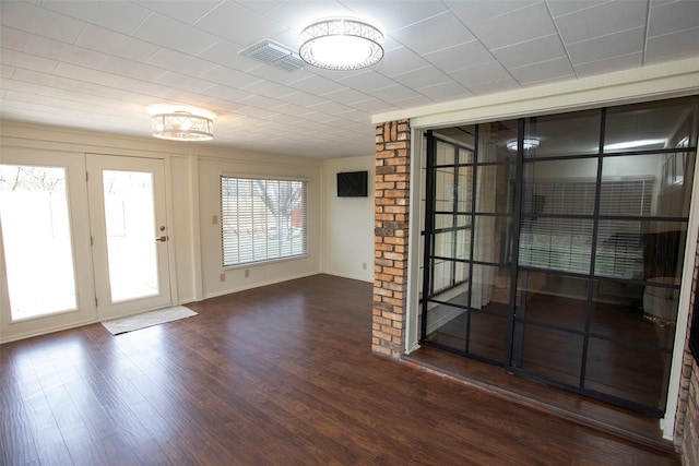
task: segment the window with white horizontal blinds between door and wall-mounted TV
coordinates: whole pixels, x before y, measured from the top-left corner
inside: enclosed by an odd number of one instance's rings
[[[307,182],[221,177],[223,266],[308,253]]]

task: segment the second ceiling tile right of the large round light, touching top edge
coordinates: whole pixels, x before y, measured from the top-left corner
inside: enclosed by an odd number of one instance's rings
[[[489,20],[469,23],[469,26],[489,49],[557,34],[545,3],[534,3]]]

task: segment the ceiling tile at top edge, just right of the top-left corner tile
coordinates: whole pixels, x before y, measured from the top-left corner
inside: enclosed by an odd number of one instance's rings
[[[128,1],[45,1],[42,7],[96,24],[121,34],[130,34],[151,12]]]

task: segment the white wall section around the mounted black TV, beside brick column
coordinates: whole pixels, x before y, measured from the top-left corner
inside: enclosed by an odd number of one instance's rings
[[[337,174],[368,171],[367,198],[337,198]],[[334,158],[324,163],[323,272],[374,282],[375,156]]]

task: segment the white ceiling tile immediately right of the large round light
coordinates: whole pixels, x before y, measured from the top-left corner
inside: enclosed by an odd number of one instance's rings
[[[393,31],[391,36],[417,53],[429,53],[474,39],[473,34],[451,12]]]

